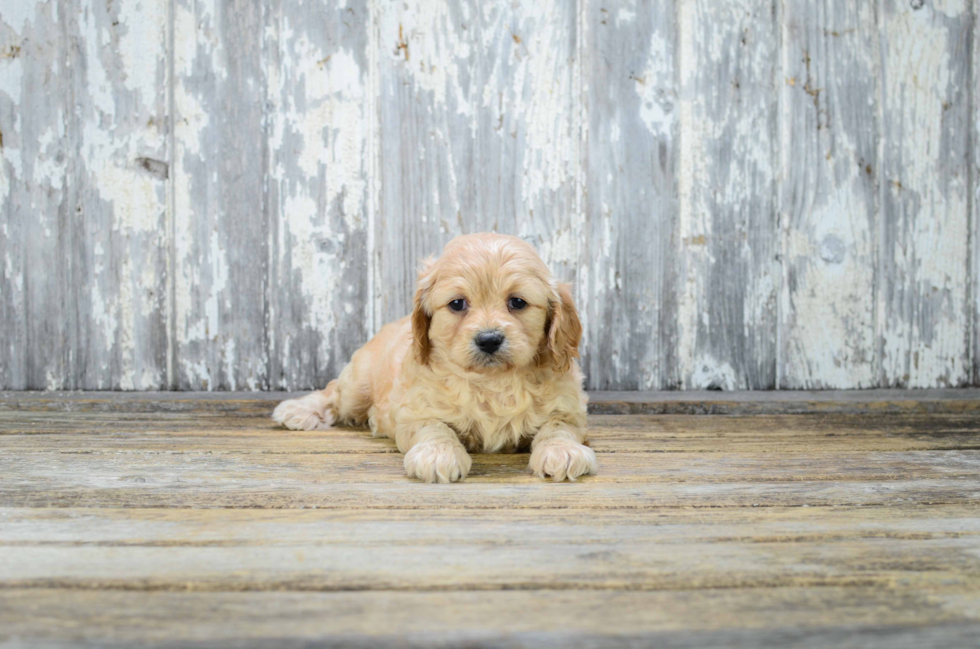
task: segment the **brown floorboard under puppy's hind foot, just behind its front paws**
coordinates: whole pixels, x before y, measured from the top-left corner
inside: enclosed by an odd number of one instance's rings
[[[337,428],[284,434],[268,411],[232,413],[0,412],[0,435],[11,449],[58,452],[71,443],[78,452],[182,450],[206,453],[234,449],[241,439],[259,453],[393,453],[387,438],[370,431]],[[874,418],[874,424],[867,419]],[[202,430],[203,429],[203,430]],[[755,415],[704,418],[691,415],[592,415],[590,444],[606,452],[778,453],[805,439],[822,451],[914,451],[975,449],[977,413],[887,415]],[[593,434],[594,433],[594,434]],[[141,445],[146,445],[142,447]],[[498,457],[498,456],[493,456]],[[516,457],[524,457],[517,455]],[[504,460],[501,460],[503,462]]]

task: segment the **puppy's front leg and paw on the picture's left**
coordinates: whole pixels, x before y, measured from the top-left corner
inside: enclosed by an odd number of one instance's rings
[[[398,431],[398,448],[405,453],[405,473],[424,482],[456,482],[470,472],[473,460],[455,431],[439,421]]]

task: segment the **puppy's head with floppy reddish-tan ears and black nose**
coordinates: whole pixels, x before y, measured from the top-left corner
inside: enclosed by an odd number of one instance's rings
[[[423,262],[412,333],[424,364],[565,371],[578,356],[582,326],[569,286],[554,282],[533,247],[516,237],[472,234]]]

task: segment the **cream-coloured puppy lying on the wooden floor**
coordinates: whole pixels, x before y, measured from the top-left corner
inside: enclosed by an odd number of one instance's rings
[[[326,389],[283,401],[272,417],[294,430],[366,422],[426,482],[465,478],[467,450],[528,448],[534,475],[574,480],[596,471],[581,334],[568,285],[529,244],[456,237],[424,262],[410,317],[383,327]]]

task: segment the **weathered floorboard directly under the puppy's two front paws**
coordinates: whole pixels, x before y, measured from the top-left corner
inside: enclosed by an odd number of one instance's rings
[[[7,440],[5,440],[7,441]],[[48,441],[48,440],[45,440]],[[251,440],[250,440],[251,441]],[[154,446],[154,445],[147,445]],[[235,452],[226,444],[155,445],[81,444],[68,452],[38,452],[12,444],[4,458],[5,480],[22,490],[144,486],[148,492],[213,485],[227,491],[277,487],[302,490],[307,484],[410,483],[402,457],[389,445],[371,452],[321,452],[294,448]],[[213,449],[213,450],[207,450]],[[384,452],[388,451],[388,452]],[[540,484],[528,473],[528,455],[473,455],[468,483]],[[602,453],[601,471],[590,484],[736,484],[799,482],[886,482],[916,479],[980,478],[977,451],[857,452],[764,454],[672,452]],[[792,484],[787,485],[792,490]]]

